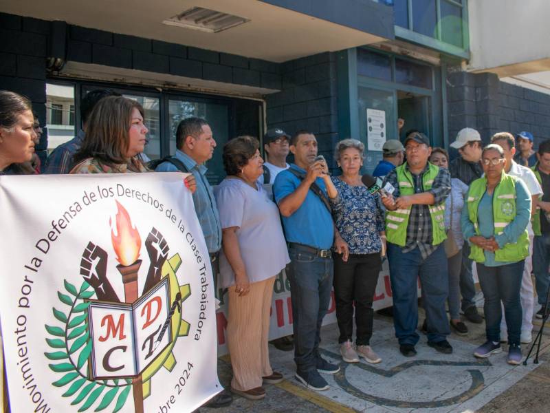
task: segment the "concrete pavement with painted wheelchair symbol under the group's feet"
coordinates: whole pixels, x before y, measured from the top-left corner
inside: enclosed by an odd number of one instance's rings
[[[419,319],[423,321],[422,310]],[[540,320],[535,322],[533,339],[540,328]],[[338,327],[325,326],[322,354],[341,367],[338,374],[324,375],[329,390],[314,392],[300,385],[294,379],[292,352],[270,346],[272,367],[285,381],[266,386],[267,396],[261,401],[235,396],[230,407],[215,412],[549,412],[550,326],[543,336],[540,363],[534,365],[531,357],[527,366],[514,367],[506,363],[507,346],[489,359],[473,357],[474,348],[485,341],[485,324],[467,325],[466,337],[449,337],[453,354],[436,352],[421,335],[417,356],[406,358],[399,353],[392,319],[375,315],[371,346],[382,357],[376,365],[344,363],[338,352]],[[522,346],[524,357],[530,347]],[[219,366],[220,380],[228,388],[229,360],[222,359]],[[214,410],[202,407],[197,412]]]

